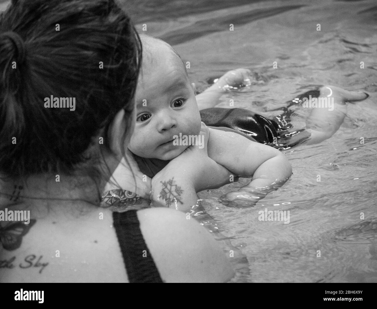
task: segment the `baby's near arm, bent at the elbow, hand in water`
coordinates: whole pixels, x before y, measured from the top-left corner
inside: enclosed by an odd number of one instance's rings
[[[253,176],[241,191],[226,195],[226,200],[239,200],[245,205],[254,205],[284,184],[292,174],[290,163],[280,151],[232,132],[210,128],[208,156],[230,170],[234,177]]]

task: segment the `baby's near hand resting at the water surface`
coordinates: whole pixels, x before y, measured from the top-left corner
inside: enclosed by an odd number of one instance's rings
[[[267,192],[241,190],[224,194],[218,201],[228,207],[253,207],[266,195]]]

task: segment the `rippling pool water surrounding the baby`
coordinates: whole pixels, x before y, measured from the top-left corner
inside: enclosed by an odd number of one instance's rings
[[[219,107],[233,99],[235,108],[272,116],[271,109],[320,85],[369,93],[348,103],[333,137],[284,151],[293,176],[256,206],[218,202],[246,178],[199,195],[212,217],[202,224],[226,238],[225,251],[239,249],[235,260],[244,256],[233,281],[377,282],[375,1],[138,1],[129,13],[139,31],[146,26],[190,61],[199,91],[228,70],[254,72],[253,83],[224,94]],[[304,116],[297,110],[295,128]],[[290,223],[259,221],[265,208],[289,210]]]

